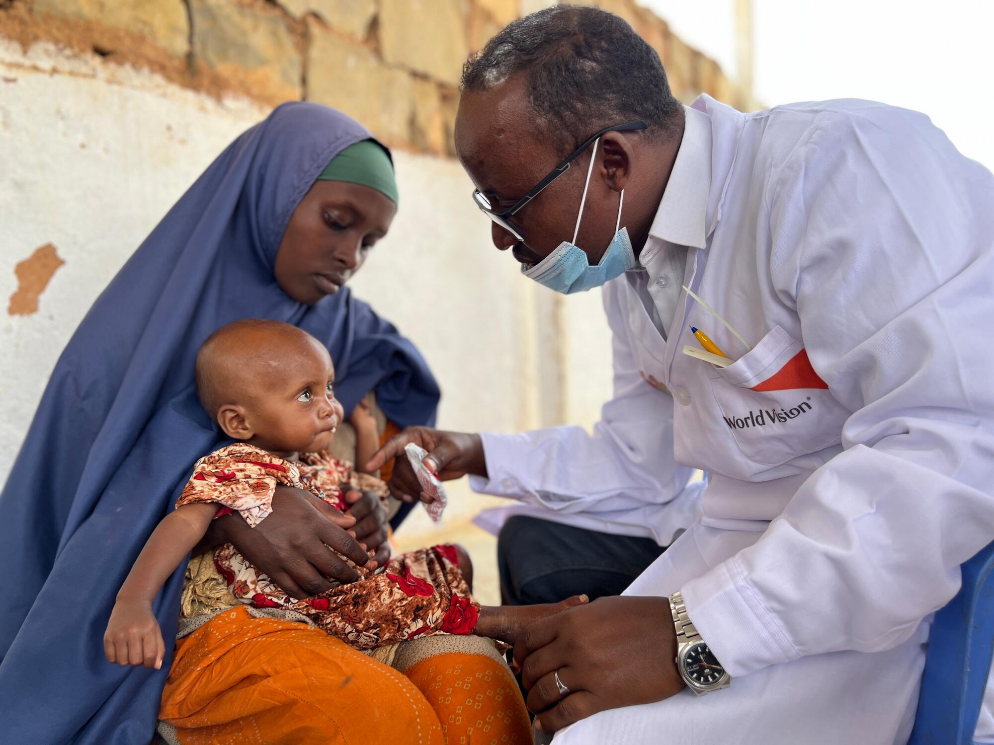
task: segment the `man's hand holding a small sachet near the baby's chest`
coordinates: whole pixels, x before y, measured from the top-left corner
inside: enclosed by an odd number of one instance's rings
[[[414,502],[421,494],[421,486],[414,476],[414,469],[404,453],[404,447],[409,442],[428,451],[424,465],[441,481],[461,479],[466,474],[483,477],[487,475],[483,443],[478,434],[443,432],[428,427],[408,427],[401,434],[387,440],[364,469],[372,473],[396,458],[394,474],[388,486],[391,494],[402,502]]]

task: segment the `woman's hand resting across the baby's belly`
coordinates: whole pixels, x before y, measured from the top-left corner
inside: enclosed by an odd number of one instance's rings
[[[209,537],[212,545],[232,543],[291,597],[309,598],[330,590],[331,580],[359,579],[359,572],[329,547],[358,566],[370,562],[359,541],[345,530],[355,522],[310,492],[277,486],[272,513],[265,520],[249,527],[238,515],[219,518],[214,521],[217,532],[212,530]]]

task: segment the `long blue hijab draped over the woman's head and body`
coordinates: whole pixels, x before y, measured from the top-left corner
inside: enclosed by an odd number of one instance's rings
[[[370,133],[285,103],[233,142],[135,251],[70,340],[0,495],[0,741],[141,743],[171,663],[119,668],[102,636],[117,589],[222,437],[197,402],[194,358],[240,318],[327,345],[351,411],[369,390],[401,426],[431,424],[438,386],[414,345],[348,290],[305,306],[273,278],[290,215],[328,162]],[[176,634],[184,568],[156,598]]]

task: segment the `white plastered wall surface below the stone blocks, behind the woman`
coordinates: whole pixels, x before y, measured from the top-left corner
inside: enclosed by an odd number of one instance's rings
[[[96,295],[201,171],[265,113],[96,57],[49,45],[25,54],[0,39],[4,452],[19,448],[49,373]],[[592,424],[610,390],[599,293],[564,299],[557,321],[554,304],[538,295],[546,290],[491,244],[458,163],[405,152],[396,161],[397,219],[353,287],[411,337],[437,374],[439,425],[512,432],[559,423],[555,412]],[[66,264],[37,313],[8,315],[14,266],[49,242]],[[550,344],[550,335],[565,335],[563,344]],[[552,376],[564,384],[540,384],[553,369],[566,371]],[[10,458],[3,463],[0,479]],[[446,521],[492,502],[454,485]],[[406,531],[427,525],[418,515]]]

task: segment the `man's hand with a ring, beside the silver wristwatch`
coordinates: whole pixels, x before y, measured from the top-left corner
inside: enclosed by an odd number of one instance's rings
[[[600,598],[529,626],[514,648],[535,726],[555,732],[604,709],[684,687],[666,598]],[[570,688],[563,696],[556,672]]]

